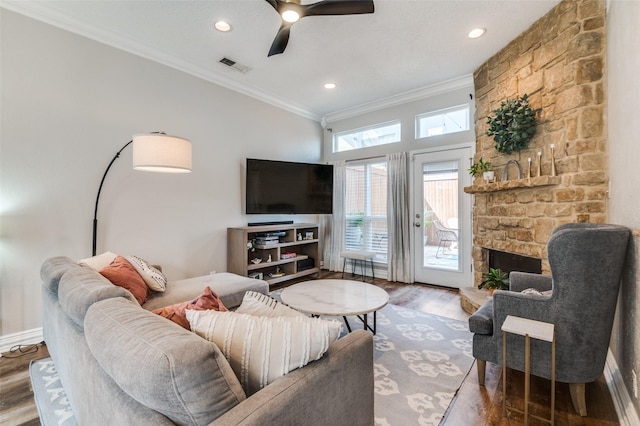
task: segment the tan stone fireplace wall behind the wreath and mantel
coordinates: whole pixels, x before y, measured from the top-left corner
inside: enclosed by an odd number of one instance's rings
[[[489,160],[498,178],[505,164],[517,160],[524,176],[527,158],[542,175],[551,171],[550,144],[555,145],[558,181],[546,186],[512,187],[474,193],[473,263],[475,284],[487,270],[487,250],[542,259],[549,273],[546,244],[558,225],[607,220],[607,134],[605,97],[606,21],[604,0],[565,0],[474,73],[476,155]],[[529,95],[542,108],[536,135],[528,149],[505,155],[486,136],[487,116],[500,102]],[[508,179],[515,179],[510,168]],[[542,179],[544,180],[544,179]],[[506,189],[502,188],[505,186]],[[491,185],[485,185],[488,187]]]

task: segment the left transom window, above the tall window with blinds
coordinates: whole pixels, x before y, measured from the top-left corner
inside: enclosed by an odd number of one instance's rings
[[[400,121],[347,130],[333,135],[333,152],[400,142]]]

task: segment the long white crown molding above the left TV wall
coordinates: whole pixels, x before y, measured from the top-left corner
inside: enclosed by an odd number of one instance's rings
[[[314,121],[320,121],[321,117],[307,108],[294,104],[273,93],[265,92],[256,87],[238,83],[224,75],[212,72],[211,70],[196,66],[190,62],[183,61],[175,56],[168,55],[151,46],[132,40],[122,34],[106,30],[96,26],[88,26],[76,19],[47,7],[43,2],[33,2],[29,0],[0,0],[0,8],[10,10],[29,18],[44,22],[57,28],[72,32],[74,34],[87,37],[108,46],[132,53],[136,56],[158,62],[178,71],[185,72],[195,77],[217,84],[224,88],[233,90],[243,95],[252,97],[259,101],[273,105],[285,111],[292,112],[302,117]]]

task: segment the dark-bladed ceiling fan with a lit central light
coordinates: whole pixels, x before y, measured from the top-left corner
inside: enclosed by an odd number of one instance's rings
[[[291,26],[305,16],[373,13],[373,0],[323,0],[306,5],[300,4],[300,0],[265,1],[273,6],[282,18],[282,25],[280,25],[267,56],[284,52],[289,42]]]

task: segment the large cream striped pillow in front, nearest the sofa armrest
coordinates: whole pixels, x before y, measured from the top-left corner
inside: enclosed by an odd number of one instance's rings
[[[220,348],[247,395],[320,359],[342,327],[320,318],[186,312],[191,331]]]

